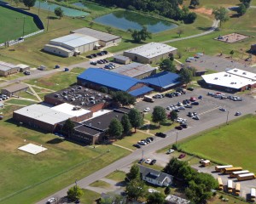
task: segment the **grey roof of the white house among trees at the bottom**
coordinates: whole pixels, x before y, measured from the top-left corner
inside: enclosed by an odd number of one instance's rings
[[[143,177],[152,178],[157,182],[164,182],[164,181],[168,183],[172,182],[172,178],[173,178],[172,175],[169,175],[167,173],[162,173],[160,171],[154,170],[149,167],[144,167],[143,165],[138,165],[138,166],[140,168],[140,173],[143,174]]]

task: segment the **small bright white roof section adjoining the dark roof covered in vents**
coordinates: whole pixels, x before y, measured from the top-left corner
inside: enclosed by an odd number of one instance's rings
[[[84,110],[82,108],[79,110],[75,110],[74,109],[75,107],[76,106],[74,106],[74,105],[64,103],[61,105],[56,105],[56,106],[52,107],[51,109],[55,110],[55,111],[60,111],[62,113],[70,115],[70,116],[83,116],[84,114],[90,113],[90,111]]]

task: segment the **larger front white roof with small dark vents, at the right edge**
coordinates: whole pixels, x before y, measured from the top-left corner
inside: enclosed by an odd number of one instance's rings
[[[256,83],[256,81],[252,79],[236,76],[225,71],[213,73],[209,75],[203,75],[202,78],[207,83],[211,83],[214,85],[227,87],[227,88],[236,88],[236,89],[242,88],[249,84]]]

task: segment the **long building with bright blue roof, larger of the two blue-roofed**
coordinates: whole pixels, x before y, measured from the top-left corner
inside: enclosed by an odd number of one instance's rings
[[[108,88],[113,91],[124,91],[130,93],[135,90],[140,90],[140,95],[134,95],[136,97],[148,94],[153,89],[148,88],[145,83],[139,79],[120,75],[113,71],[106,71],[103,69],[89,68],[77,77],[78,84],[99,90],[100,88]]]

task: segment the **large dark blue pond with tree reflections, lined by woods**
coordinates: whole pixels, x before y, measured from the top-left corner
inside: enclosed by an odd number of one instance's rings
[[[148,31],[156,33],[177,27],[176,24],[172,24],[166,20],[159,20],[130,11],[116,11],[111,14],[102,15],[96,18],[94,21],[102,25],[113,26],[124,31],[127,31],[129,28],[141,30],[143,26],[146,26]]]

